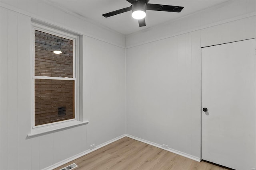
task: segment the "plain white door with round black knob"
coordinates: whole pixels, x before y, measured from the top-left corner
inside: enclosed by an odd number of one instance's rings
[[[255,170],[255,123],[256,39],[202,48],[202,159]]]

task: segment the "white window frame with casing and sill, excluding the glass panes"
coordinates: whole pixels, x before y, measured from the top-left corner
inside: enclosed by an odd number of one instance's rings
[[[66,39],[70,39],[73,41],[73,78],[67,78],[67,77],[51,77],[51,76],[35,76],[35,30],[42,31],[45,33],[49,33],[52,35],[56,35],[59,37],[63,37]],[[78,45],[79,42],[79,36],[72,35],[70,33],[66,33],[64,31],[59,31],[57,29],[53,29],[50,27],[42,26],[36,23],[32,23],[32,121],[31,121],[31,133],[28,134],[28,137],[38,135],[41,133],[47,133],[49,131],[55,131],[58,129],[63,129],[66,127],[76,126],[80,124],[87,124],[88,121],[82,121],[80,120],[80,113],[79,112],[79,68],[78,68],[78,60],[79,60],[79,54],[78,54]],[[74,110],[75,110],[75,118],[74,119],[68,119],[64,121],[57,121],[53,123],[47,123],[43,125],[37,125],[35,126],[35,79],[51,79],[51,80],[73,80],[75,87],[74,87]]]

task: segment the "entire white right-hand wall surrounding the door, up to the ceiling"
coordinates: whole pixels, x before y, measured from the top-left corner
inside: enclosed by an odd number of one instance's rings
[[[256,38],[255,11],[229,1],[127,36],[127,133],[200,159],[200,48]]]

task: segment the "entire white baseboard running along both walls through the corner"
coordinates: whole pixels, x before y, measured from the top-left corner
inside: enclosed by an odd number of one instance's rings
[[[186,157],[186,158],[195,160],[195,161],[197,161],[197,162],[200,162],[200,161],[201,161],[201,159],[198,158],[198,157],[196,157],[196,156],[193,156],[193,155],[190,155],[190,154],[186,154],[186,153],[184,153],[184,152],[180,152],[180,151],[178,151],[178,150],[171,149],[171,148],[165,149],[165,148],[162,147],[162,145],[159,145],[159,144],[156,144],[156,143],[153,143],[153,142],[150,142],[150,141],[146,141],[146,140],[144,140],[144,139],[140,139],[140,138],[134,137],[134,136],[132,136],[132,135],[124,134],[124,135],[121,135],[121,136],[119,136],[119,137],[116,137],[116,138],[114,138],[114,139],[112,139],[112,140],[110,140],[110,141],[107,141],[107,142],[105,142],[105,143],[102,143],[102,144],[96,146],[96,147],[95,147],[94,149],[92,149],[92,150],[90,150],[90,149],[85,150],[84,152],[81,152],[81,153],[79,153],[79,154],[76,154],[76,155],[74,155],[74,156],[71,156],[70,158],[67,158],[67,159],[65,159],[65,160],[62,160],[62,161],[60,161],[60,162],[58,162],[58,163],[56,163],[56,164],[53,164],[53,165],[51,165],[51,166],[48,166],[47,168],[44,168],[44,169],[42,169],[42,170],[52,170],[52,169],[54,169],[54,168],[58,168],[59,166],[62,166],[62,165],[66,164],[66,163],[68,163],[68,162],[70,162],[70,161],[72,161],[72,160],[75,160],[75,159],[77,159],[77,158],[80,158],[81,156],[84,156],[84,155],[86,155],[86,154],[88,154],[88,153],[90,153],[90,152],[93,152],[94,150],[100,149],[100,148],[102,148],[102,147],[104,147],[104,146],[106,146],[106,145],[108,145],[108,144],[110,144],[110,143],[113,143],[113,142],[115,142],[115,141],[117,141],[117,140],[119,140],[119,139],[122,139],[123,137],[132,138],[132,139],[134,139],[134,140],[137,140],[137,141],[146,143],[146,144],[148,144],[148,145],[152,145],[152,146],[154,146],[154,147],[158,147],[158,148],[160,148],[160,149],[167,150],[167,151],[169,151],[169,152],[173,152],[173,153],[175,153],[175,154],[184,156],[184,157]]]

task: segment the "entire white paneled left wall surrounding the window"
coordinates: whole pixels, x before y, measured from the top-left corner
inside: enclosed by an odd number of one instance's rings
[[[42,2],[24,2],[20,8],[31,13],[17,11],[25,15],[1,6],[0,169],[46,168],[125,134],[124,37]],[[49,10],[43,12],[45,8]],[[88,125],[27,138],[32,112],[31,17],[84,35],[83,119]]]

